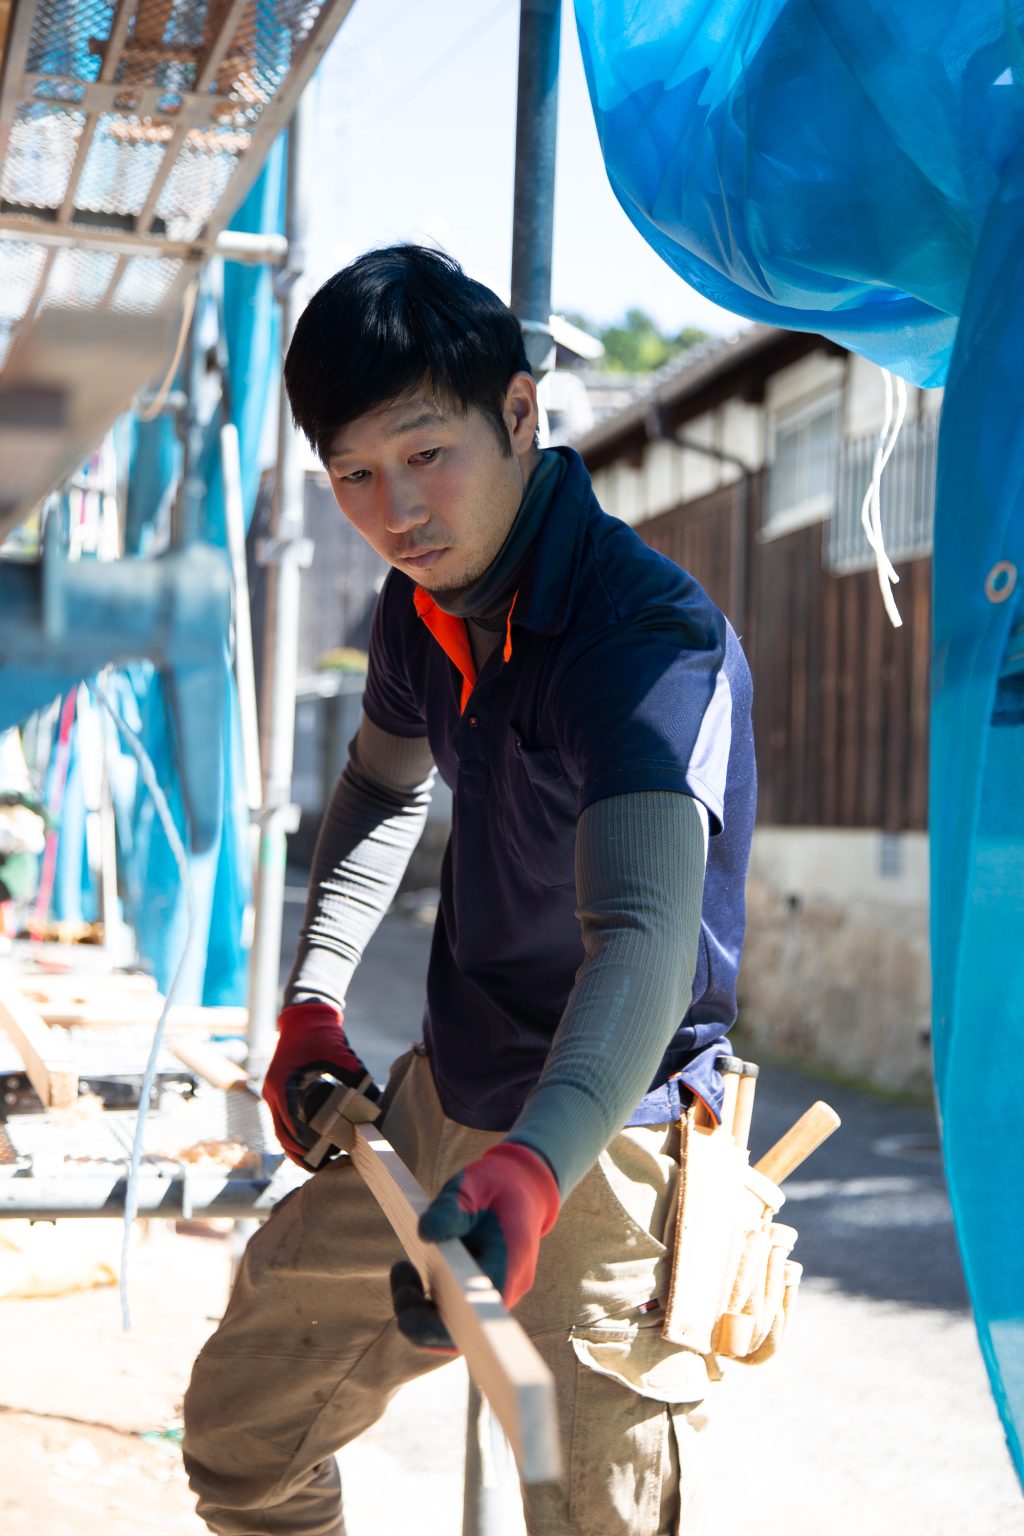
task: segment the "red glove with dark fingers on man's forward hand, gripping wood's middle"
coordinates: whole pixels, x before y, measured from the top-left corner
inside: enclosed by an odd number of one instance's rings
[[[499,1141],[476,1163],[450,1178],[419,1218],[427,1243],[462,1238],[507,1307],[527,1295],[537,1272],[540,1238],[559,1215],[559,1186],[536,1152]],[[402,1333],[425,1349],[454,1344],[413,1264],[391,1270],[391,1298]]]

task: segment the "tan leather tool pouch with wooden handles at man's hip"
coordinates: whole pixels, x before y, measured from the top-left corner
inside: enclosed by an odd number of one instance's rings
[[[725,1057],[722,1121],[702,1103],[680,1120],[672,1276],[663,1335],[705,1356],[771,1359],[786,1332],[803,1269],[791,1226],[775,1221],[778,1187],[840,1120],[814,1104],[755,1167],[746,1146],[757,1066]]]

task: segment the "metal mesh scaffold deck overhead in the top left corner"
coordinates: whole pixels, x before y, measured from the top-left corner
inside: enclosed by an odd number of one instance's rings
[[[350,8],[17,0],[0,88],[0,232],[37,221],[94,241],[106,229],[209,244]]]

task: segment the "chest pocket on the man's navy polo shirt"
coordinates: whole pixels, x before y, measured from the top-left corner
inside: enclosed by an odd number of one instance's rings
[[[559,754],[531,746],[510,727],[500,791],[493,814],[513,863],[531,885],[574,885],[576,790],[562,771]]]

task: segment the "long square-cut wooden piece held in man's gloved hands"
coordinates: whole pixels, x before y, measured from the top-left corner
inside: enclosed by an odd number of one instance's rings
[[[355,1126],[352,1161],[419,1270],[445,1327],[510,1439],[524,1482],[562,1476],[554,1381],[540,1355],[462,1243],[424,1243],[430,1204],[376,1126]]]

